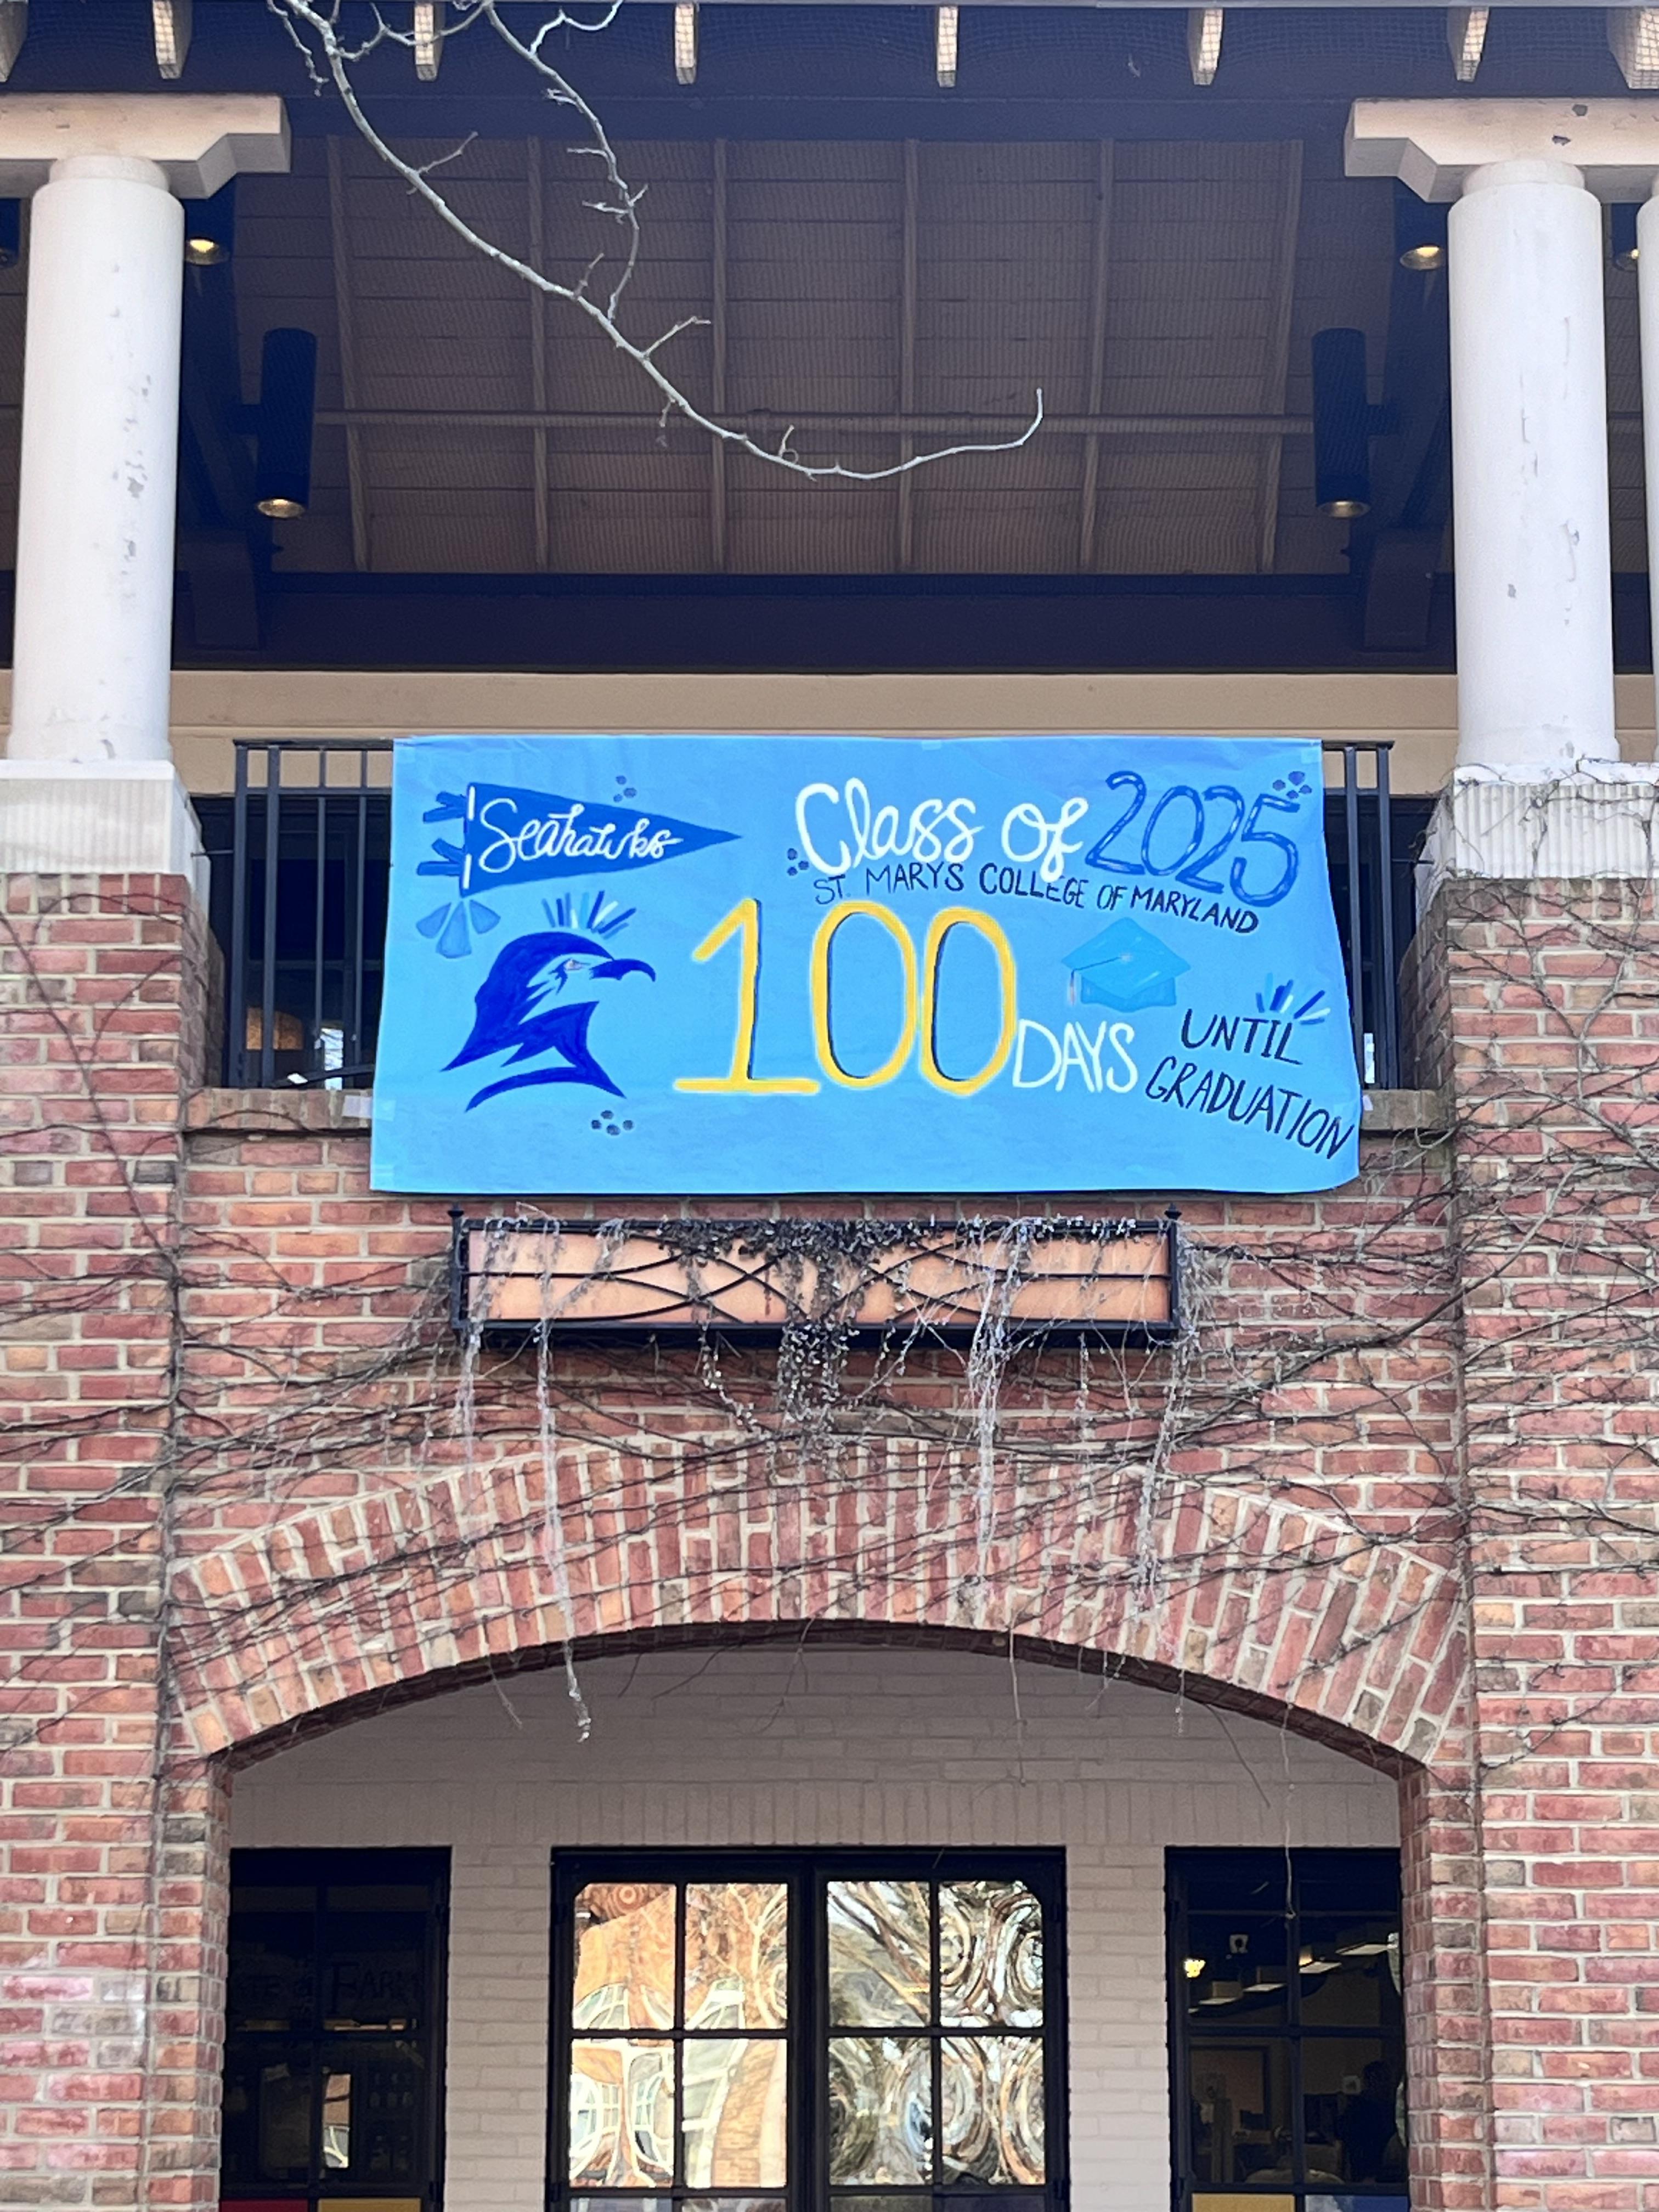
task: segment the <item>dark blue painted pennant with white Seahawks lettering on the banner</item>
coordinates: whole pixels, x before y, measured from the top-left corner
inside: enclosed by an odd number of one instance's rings
[[[617,799],[566,799],[562,792],[524,792],[511,783],[469,783],[465,792],[438,792],[427,823],[458,823],[458,843],[436,836],[436,860],[422,860],[422,876],[456,876],[462,898],[504,891],[515,883],[546,883],[551,876],[619,876],[630,867],[681,860],[706,845],[730,845],[732,830],[701,830]]]

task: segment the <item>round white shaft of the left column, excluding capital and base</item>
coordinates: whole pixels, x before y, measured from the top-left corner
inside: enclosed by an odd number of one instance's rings
[[[168,761],[184,208],[55,161],[29,221],[13,761]]]

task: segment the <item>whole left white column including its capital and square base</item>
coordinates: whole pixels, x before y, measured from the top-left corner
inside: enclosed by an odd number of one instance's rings
[[[168,750],[179,199],[285,168],[272,97],[0,102],[0,195],[35,195],[0,872],[190,874],[204,887]]]

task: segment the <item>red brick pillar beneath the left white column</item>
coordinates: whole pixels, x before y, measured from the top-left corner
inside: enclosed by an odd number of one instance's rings
[[[166,1767],[181,1093],[208,938],[179,876],[0,911],[0,2201],[217,2185],[223,1794]]]

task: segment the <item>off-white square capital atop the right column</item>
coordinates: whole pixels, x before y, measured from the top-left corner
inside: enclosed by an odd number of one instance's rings
[[[1347,113],[1347,175],[1398,177],[1418,199],[1458,199],[1500,161],[1555,161],[1597,199],[1646,199],[1659,100],[1356,100]]]

